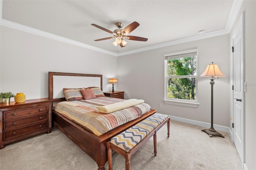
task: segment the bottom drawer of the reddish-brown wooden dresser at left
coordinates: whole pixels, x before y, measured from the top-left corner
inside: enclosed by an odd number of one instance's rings
[[[43,121],[41,123],[37,123],[34,125],[30,125],[24,128],[19,128],[19,129],[14,129],[14,130],[10,130],[10,131],[4,131],[4,140],[7,139],[11,139],[11,138],[16,138],[18,136],[21,136],[23,134],[26,133],[31,133],[34,130],[40,130],[40,129],[44,129],[44,128],[48,128],[48,122]]]

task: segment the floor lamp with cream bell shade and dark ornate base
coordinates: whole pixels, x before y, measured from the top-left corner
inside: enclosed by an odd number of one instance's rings
[[[211,127],[209,129],[202,130],[203,132],[206,132],[209,134],[210,137],[212,136],[220,136],[224,138],[222,134],[217,132],[213,128],[213,85],[214,85],[214,79],[218,79],[218,77],[225,77],[225,75],[220,71],[218,64],[208,64],[204,73],[201,75],[202,77],[212,77],[210,80],[211,85]]]

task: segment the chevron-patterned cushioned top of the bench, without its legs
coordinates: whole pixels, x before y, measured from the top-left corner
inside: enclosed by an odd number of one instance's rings
[[[111,138],[111,143],[128,152],[167,118],[167,115],[155,113],[133,127],[128,128],[124,132]]]

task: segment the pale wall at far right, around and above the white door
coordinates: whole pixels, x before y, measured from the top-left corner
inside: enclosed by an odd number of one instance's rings
[[[256,170],[256,1],[244,0],[234,28],[245,11],[245,164],[248,170]],[[230,36],[232,44],[232,36]],[[232,54],[230,54],[232,60]],[[232,70],[231,70],[232,71]],[[230,113],[231,114],[231,113]]]

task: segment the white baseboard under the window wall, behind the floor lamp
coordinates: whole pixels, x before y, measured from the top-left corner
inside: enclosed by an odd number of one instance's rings
[[[170,116],[172,121],[178,121],[178,122],[182,122],[182,123],[188,123],[190,125],[196,125],[196,126],[200,126],[200,127],[204,127],[204,128],[210,128],[211,124],[210,123],[204,123],[204,122],[200,122],[200,121],[194,121],[194,120],[190,120],[190,119],[184,119],[181,117],[175,117],[175,116]],[[227,132],[229,134],[230,133],[230,129],[228,127],[224,127],[224,126],[220,126],[220,125],[213,125],[215,130],[219,130],[222,132]]]

